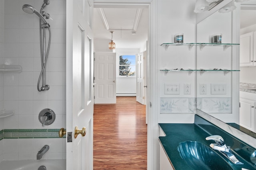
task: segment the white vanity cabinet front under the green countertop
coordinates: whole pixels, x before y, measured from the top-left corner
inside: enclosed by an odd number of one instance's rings
[[[164,134],[164,131],[162,131],[161,128],[159,128],[159,136],[166,136]],[[174,170],[172,167],[172,164],[166,155],[166,152],[164,151],[164,148],[162,147],[160,141],[159,143],[159,170]]]

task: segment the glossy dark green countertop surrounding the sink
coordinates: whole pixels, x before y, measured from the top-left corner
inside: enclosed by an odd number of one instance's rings
[[[197,115],[196,117],[197,119],[202,119]],[[233,136],[227,135],[228,133],[222,131],[220,128],[211,125],[209,122],[207,122],[206,124],[202,123],[200,125],[197,125],[196,123],[159,123],[159,127],[166,134],[165,137],[159,137],[159,141],[162,144],[170,161],[172,162],[175,170],[193,170],[193,168],[191,168],[186,163],[186,161],[180,157],[177,149],[180,142],[198,141],[200,143],[203,143],[204,145],[209,146],[211,143],[214,143],[214,141],[206,141],[205,138],[210,135],[220,135],[223,137],[224,141],[226,141],[227,146],[230,146],[231,148],[237,148],[238,145],[241,145],[242,147],[247,146],[244,143],[241,143],[241,141],[237,141],[238,139],[234,138]],[[202,127],[205,127],[205,129],[203,129]],[[218,154],[220,153],[218,152]],[[230,162],[228,158],[225,158],[222,154],[220,155],[224,159],[226,159],[227,162]],[[232,168],[234,168],[234,170],[241,170],[242,168],[256,169],[255,166],[253,166],[252,164],[248,164],[246,160],[241,159],[241,157],[238,158],[238,160],[245,163],[244,165],[235,165],[230,162],[230,165],[232,166]]]

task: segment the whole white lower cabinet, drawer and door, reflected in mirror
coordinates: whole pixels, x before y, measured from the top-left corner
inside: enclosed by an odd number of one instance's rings
[[[240,92],[240,126],[256,132],[256,94]]]

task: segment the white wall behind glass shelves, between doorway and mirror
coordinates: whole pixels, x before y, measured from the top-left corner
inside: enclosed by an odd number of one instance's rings
[[[195,73],[191,75],[188,72],[165,72],[163,69],[193,69],[195,68],[195,47],[189,51],[188,46],[168,47],[167,50],[160,45],[162,43],[174,43],[176,33],[184,33],[184,43],[195,42],[195,22],[196,14],[194,10],[194,1],[186,0],[158,0],[158,39],[156,56],[158,66],[154,70],[158,74],[158,88],[154,89],[158,98],[158,123],[192,123],[194,114],[168,112],[162,108],[168,107],[170,98],[179,98],[177,100],[188,101],[188,98],[195,98]],[[180,84],[180,94],[164,94],[164,84]],[[184,83],[191,84],[191,94],[184,94]],[[160,103],[161,101],[161,103]],[[153,104],[154,105],[154,104]],[[162,107],[166,105],[166,107]],[[177,107],[177,106],[174,106]],[[164,113],[159,113],[161,110]],[[170,109],[171,110],[171,109]],[[178,110],[178,108],[176,108]],[[175,113],[176,112],[176,113]],[[183,111],[182,111],[183,112]]]

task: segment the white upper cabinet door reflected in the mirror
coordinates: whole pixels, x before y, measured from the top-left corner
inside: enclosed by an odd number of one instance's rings
[[[254,33],[240,35],[240,66],[254,66]]]

